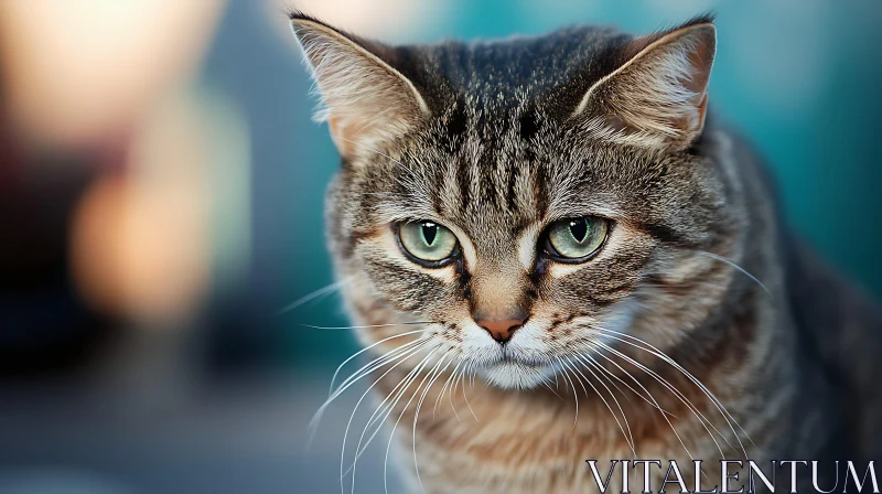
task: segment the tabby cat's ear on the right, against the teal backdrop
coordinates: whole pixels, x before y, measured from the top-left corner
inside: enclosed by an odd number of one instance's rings
[[[717,51],[710,18],[632,41],[619,68],[584,95],[573,116],[601,139],[679,150],[704,126]]]

